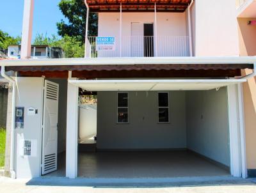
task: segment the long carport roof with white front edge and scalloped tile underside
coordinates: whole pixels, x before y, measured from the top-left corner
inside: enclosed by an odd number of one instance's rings
[[[6,71],[236,70],[253,69],[255,57],[63,58],[0,61]]]

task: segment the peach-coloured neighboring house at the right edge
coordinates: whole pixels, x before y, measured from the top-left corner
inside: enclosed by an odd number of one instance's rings
[[[237,1],[240,56],[256,56],[256,1]],[[252,73],[244,70],[243,74]],[[243,84],[248,175],[256,176],[256,79]]]

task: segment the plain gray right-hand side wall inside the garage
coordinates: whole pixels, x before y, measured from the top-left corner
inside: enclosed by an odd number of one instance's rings
[[[227,89],[187,91],[186,104],[188,149],[230,166]]]

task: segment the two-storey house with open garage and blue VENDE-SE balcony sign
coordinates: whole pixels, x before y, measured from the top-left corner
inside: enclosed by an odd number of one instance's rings
[[[248,177],[255,167],[246,155],[241,70],[253,72],[256,58],[239,57],[235,1],[84,3],[87,14],[99,14],[98,36],[86,28],[85,58],[69,59],[29,59],[33,0],[24,3],[21,59],[0,62],[3,75],[17,72],[4,75],[15,96],[6,171],[13,178]],[[97,98],[97,108],[79,114],[83,93]],[[95,127],[92,143],[78,140]]]

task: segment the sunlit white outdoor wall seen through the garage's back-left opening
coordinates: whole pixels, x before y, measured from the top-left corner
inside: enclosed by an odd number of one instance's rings
[[[97,105],[79,107],[79,137],[87,139],[97,134]]]

